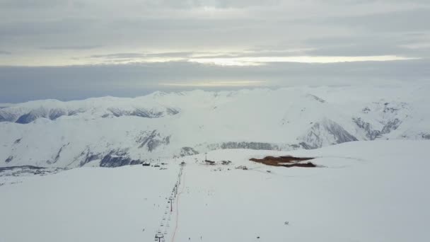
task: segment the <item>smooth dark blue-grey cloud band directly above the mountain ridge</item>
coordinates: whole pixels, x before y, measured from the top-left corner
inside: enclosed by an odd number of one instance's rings
[[[334,64],[272,63],[259,67],[219,67],[190,62],[0,67],[0,102],[44,98],[71,100],[94,96],[132,97],[156,90],[190,90],[192,87],[160,86],[161,83],[190,81],[265,81],[262,85],[271,87],[351,86],[366,83],[421,85],[429,83],[429,76],[429,59]]]

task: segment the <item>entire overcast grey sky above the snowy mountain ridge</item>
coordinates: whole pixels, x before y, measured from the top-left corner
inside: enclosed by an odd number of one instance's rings
[[[428,0],[0,0],[0,102],[429,81]]]

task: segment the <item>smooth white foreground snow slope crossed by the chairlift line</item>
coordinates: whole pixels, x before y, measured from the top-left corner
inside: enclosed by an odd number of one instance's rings
[[[215,166],[197,154],[162,159],[166,170],[123,166],[35,175],[0,186],[1,238],[153,241],[170,217],[165,241],[174,233],[174,241],[429,241],[429,147],[426,140],[380,140],[297,151],[226,149],[207,154]],[[248,161],[268,155],[313,156],[320,167]],[[182,161],[178,210],[174,206],[165,221]]]

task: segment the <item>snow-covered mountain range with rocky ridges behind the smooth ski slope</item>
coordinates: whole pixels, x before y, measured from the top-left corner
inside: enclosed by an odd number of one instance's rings
[[[214,149],[430,139],[429,91],[301,87],[19,103],[0,109],[0,166],[112,167]]]

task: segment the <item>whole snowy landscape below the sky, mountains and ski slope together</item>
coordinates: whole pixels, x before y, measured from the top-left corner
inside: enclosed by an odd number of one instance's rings
[[[0,242],[430,241],[428,93],[306,86],[0,105]],[[267,156],[315,167],[250,161]]]

